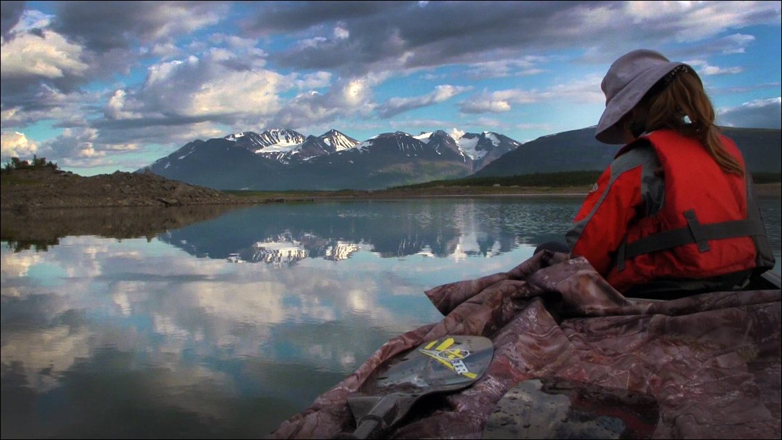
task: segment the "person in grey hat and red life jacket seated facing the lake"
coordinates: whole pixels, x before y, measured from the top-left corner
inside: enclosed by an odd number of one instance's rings
[[[692,66],[635,50],[601,88],[595,137],[624,146],[565,234],[571,253],[626,296],[660,299],[735,288],[772,268],[752,177]]]

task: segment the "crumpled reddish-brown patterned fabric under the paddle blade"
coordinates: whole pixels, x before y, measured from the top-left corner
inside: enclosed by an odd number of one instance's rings
[[[586,259],[543,251],[504,274],[425,292],[439,323],[391,339],[268,438],[353,431],[346,399],[396,354],[447,334],[490,338],[486,374],[419,402],[387,438],[480,438],[505,392],[531,378],[650,395],[653,438],[780,438],[780,290],[626,299]]]

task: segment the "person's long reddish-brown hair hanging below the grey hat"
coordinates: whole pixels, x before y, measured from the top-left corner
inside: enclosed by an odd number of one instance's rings
[[[723,146],[719,127],[714,124],[712,102],[701,78],[691,69],[676,72],[655,84],[641,105],[646,110],[647,131],[667,128],[697,139],[723,171],[744,175],[741,163]]]

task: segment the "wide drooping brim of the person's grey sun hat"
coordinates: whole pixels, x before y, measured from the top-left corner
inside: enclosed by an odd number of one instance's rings
[[[605,144],[625,144],[626,139],[621,127],[616,123],[622,120],[622,116],[630,113],[633,107],[637,106],[641,98],[644,98],[646,92],[662,80],[671,70],[684,63],[670,62],[655,66],[653,69],[645,70],[637,77],[630,80],[622,90],[620,90],[610,102],[605,105],[605,110],[600,116],[600,122],[597,123],[594,137]]]

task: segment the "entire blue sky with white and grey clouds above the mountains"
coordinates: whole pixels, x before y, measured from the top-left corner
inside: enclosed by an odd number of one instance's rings
[[[614,59],[701,73],[780,128],[780,2],[2,2],[2,161],[131,171],[195,139],[590,127]]]

